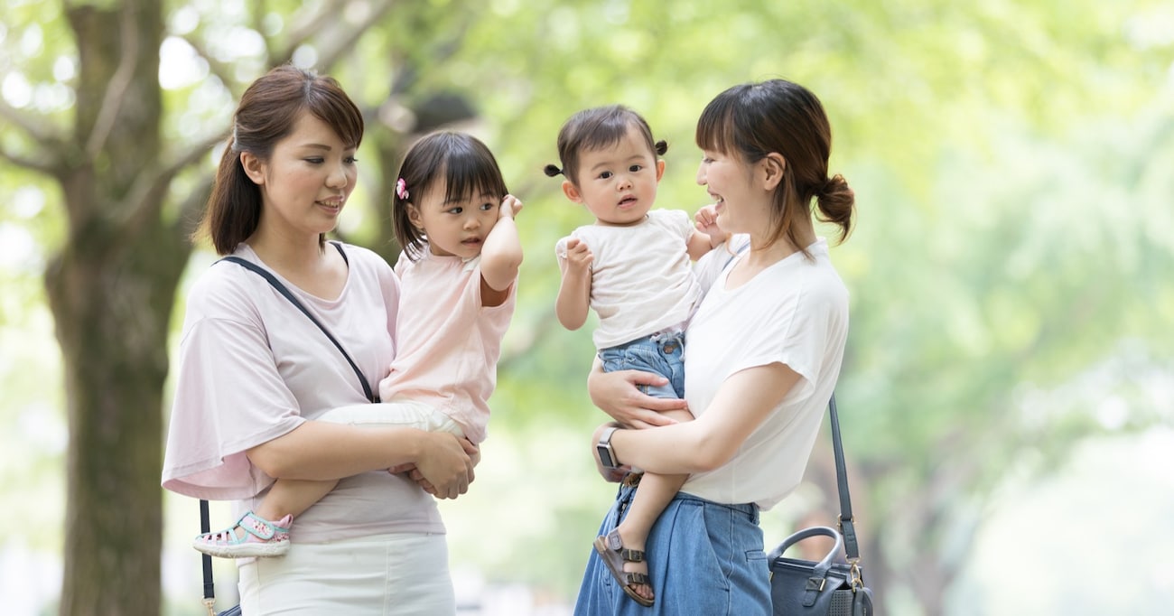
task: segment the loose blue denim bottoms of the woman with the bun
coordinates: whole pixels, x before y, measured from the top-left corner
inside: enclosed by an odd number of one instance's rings
[[[623,519],[635,487],[621,487],[600,534]],[[575,616],[770,616],[770,571],[758,507],[721,505],[677,493],[648,536],[648,577],[656,603],[643,608],[620,588],[594,549]]]

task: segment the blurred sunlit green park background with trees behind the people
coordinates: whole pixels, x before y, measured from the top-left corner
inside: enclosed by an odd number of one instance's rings
[[[0,1],[0,597],[5,614],[196,615],[196,502],[158,488],[185,238],[236,97],[269,67],[364,108],[339,237],[394,257],[402,153],[485,140],[526,263],[472,490],[443,510],[461,614],[562,615],[614,489],[553,312],[589,221],[541,167],[621,102],[704,204],[694,122],[734,83],[822,97],[858,226],[838,388],[865,578],[892,615],[1174,603],[1174,5],[726,0]],[[826,438],[763,516],[835,522]],[[229,519],[214,503],[214,521]],[[215,522],[214,522],[215,523]],[[220,607],[234,598],[217,563]]]

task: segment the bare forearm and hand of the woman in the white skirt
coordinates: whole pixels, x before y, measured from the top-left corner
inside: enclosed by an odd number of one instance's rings
[[[410,463],[443,499],[464,494],[473,481],[470,453],[446,432],[305,421],[247,454],[277,479],[335,480]]]

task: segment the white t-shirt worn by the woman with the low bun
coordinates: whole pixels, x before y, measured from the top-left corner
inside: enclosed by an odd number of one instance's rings
[[[808,252],[812,259],[796,252],[736,289],[726,287],[726,268],[693,316],[684,397],[694,415],[704,414],[722,383],[742,370],[781,363],[799,380],[729,462],[690,475],[681,492],[765,510],[803,479],[848,339],[848,290],[826,241]]]

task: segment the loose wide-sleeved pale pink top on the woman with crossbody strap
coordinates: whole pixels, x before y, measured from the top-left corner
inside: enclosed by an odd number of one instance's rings
[[[375,252],[344,250],[349,272],[336,299],[311,296],[274,273],[376,387],[396,354],[391,332],[399,283]],[[247,244],[236,256],[264,266]],[[274,482],[245,449],[325,411],[365,401],[355,371],[305,314],[257,273],[216,263],[188,293],[163,487],[200,499],[237,499],[243,513]],[[433,497],[385,471],[343,479],[292,530],[294,540],[305,542],[383,533],[444,533]]]

